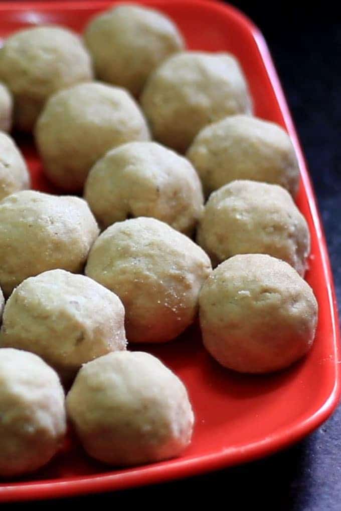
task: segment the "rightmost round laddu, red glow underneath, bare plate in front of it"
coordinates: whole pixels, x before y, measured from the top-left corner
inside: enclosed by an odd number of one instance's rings
[[[266,254],[221,263],[199,296],[204,346],[224,367],[241,373],[283,369],[314,340],[317,302],[290,265]]]

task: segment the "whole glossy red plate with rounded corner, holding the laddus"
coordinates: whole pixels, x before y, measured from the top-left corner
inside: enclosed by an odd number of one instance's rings
[[[196,426],[191,447],[178,459],[126,470],[110,470],[83,453],[69,436],[63,451],[33,478],[3,482],[0,500],[62,497],[123,489],[199,474],[282,449],[327,419],[339,397],[338,323],[332,275],[319,213],[304,157],[266,43],[258,29],[232,7],[214,2],[144,2],[170,15],[195,50],[232,52],[251,87],[255,113],[286,127],[300,162],[298,205],[311,232],[307,281],[319,301],[319,327],[305,360],[280,374],[248,377],[223,370],[204,352],[198,329],[153,348],[186,383]],[[112,2],[0,4],[0,37],[29,24],[54,23],[81,31],[88,18]],[[20,145],[34,186],[50,190],[32,141]],[[141,348],[140,348],[141,349]],[[146,346],[145,349],[149,349]]]

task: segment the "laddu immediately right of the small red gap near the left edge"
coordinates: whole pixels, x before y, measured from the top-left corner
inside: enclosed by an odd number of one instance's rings
[[[38,119],[35,138],[49,179],[64,190],[76,191],[109,149],[149,140],[150,135],[128,92],[93,82],[52,96]]]

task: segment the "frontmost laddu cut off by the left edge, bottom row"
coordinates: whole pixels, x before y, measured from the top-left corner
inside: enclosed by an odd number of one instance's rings
[[[0,350],[0,476],[30,473],[58,452],[66,431],[58,375],[33,353]]]

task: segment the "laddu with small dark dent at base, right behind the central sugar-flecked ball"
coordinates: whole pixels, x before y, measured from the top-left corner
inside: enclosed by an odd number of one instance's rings
[[[154,217],[191,235],[203,212],[200,179],[190,162],[154,142],[130,142],[100,159],[84,190],[103,226]]]

